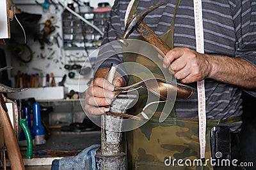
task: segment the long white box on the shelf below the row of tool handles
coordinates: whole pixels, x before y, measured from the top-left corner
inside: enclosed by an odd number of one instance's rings
[[[29,88],[22,92],[8,93],[10,99],[28,99],[34,97],[35,100],[58,100],[64,99],[64,94],[67,93],[67,88],[59,87],[40,87]]]

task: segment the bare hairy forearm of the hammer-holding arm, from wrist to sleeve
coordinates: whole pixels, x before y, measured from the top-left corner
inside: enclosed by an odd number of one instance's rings
[[[256,67],[247,60],[226,56],[209,56],[209,78],[246,89],[256,88]]]

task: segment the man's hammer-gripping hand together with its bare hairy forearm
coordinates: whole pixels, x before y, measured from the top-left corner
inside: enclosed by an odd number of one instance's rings
[[[247,89],[256,88],[256,67],[239,57],[208,55],[177,47],[166,53],[163,67],[169,67],[171,74],[174,71],[175,78],[182,83],[212,78]]]

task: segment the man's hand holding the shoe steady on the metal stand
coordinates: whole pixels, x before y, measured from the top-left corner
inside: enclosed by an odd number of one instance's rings
[[[105,78],[107,70],[99,70],[95,74],[95,79],[90,84],[90,87],[85,91],[85,110],[88,113],[93,115],[101,115],[105,113],[104,106],[108,106],[112,103],[115,94],[114,94],[114,85],[116,87],[122,86],[122,78],[115,78],[112,85]],[[97,76],[98,75],[98,76]],[[103,77],[99,77],[103,76]]]

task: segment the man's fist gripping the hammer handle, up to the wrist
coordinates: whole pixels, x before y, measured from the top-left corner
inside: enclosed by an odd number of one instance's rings
[[[173,48],[166,53],[163,67],[169,67],[170,73],[174,71],[175,78],[182,83],[209,78],[212,69],[208,55],[183,47]]]

